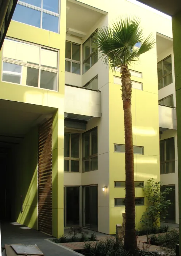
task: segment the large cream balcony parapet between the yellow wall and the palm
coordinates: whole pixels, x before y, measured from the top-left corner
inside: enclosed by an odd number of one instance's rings
[[[79,120],[101,117],[100,91],[65,85],[65,112]]]

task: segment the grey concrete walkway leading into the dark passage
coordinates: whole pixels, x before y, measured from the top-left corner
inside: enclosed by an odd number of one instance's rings
[[[1,246],[5,244],[36,244],[45,256],[76,256],[72,252],[45,239],[51,238],[19,223],[1,222]]]

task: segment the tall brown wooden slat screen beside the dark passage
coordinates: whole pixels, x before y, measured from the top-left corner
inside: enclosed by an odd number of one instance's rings
[[[39,126],[38,230],[52,234],[52,118]]]

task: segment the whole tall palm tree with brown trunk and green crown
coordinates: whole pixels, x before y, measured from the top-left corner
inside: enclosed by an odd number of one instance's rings
[[[141,42],[140,48],[135,44]],[[134,156],[132,142],[131,93],[132,84],[128,64],[138,60],[143,54],[154,47],[154,38],[150,34],[145,40],[143,30],[140,29],[139,19],[120,19],[112,26],[101,28],[96,36],[97,52],[109,68],[115,71],[120,68],[122,79],[122,100],[124,110],[125,135],[125,172],[126,172],[126,200],[125,200],[125,237],[124,248],[131,253],[137,250],[135,232],[135,187],[134,187]]]

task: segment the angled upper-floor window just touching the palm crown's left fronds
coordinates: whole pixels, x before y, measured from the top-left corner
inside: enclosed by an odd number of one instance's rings
[[[83,74],[98,60],[97,52],[95,52],[95,40],[95,33],[93,33],[83,44]]]

